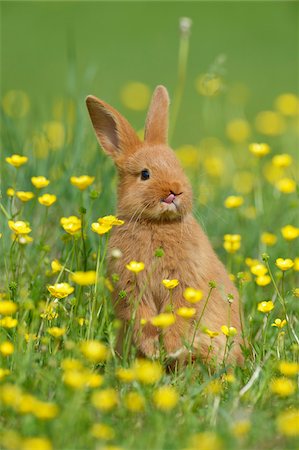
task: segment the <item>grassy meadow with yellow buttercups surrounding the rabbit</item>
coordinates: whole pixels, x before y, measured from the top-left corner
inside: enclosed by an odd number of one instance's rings
[[[106,253],[112,227],[122,225],[116,171],[96,142],[82,95],[97,95],[88,86],[92,68],[75,95],[70,56],[67,88],[58,98],[48,93],[46,104],[33,84],[19,88],[14,74],[10,86],[6,76],[1,450],[298,448],[299,97],[292,80],[278,76],[279,91],[268,86],[251,104],[254,86],[230,81],[221,55],[188,84],[192,35],[184,30],[176,84],[169,75],[170,142],[192,182],[194,214],[240,293],[244,365],[190,358],[169,368],[163,352],[140,358],[134,346],[123,358],[116,354],[117,274],[108,277]],[[120,89],[110,93],[107,75],[108,100],[142,137],[154,77],[132,81],[125,69],[117,76]],[[189,101],[192,126],[181,114]],[[128,270],[138,277],[134,264]],[[164,282],[169,295],[179,281]],[[186,307],[176,314],[193,320],[187,295]],[[156,323],[164,329],[172,320]],[[225,320],[221,329],[206,329],[204,319],[198,326],[211,349],[225,334],[229,351],[235,330]]]

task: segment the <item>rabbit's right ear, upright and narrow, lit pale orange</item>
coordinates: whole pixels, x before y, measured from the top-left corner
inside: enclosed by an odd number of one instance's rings
[[[169,95],[164,86],[157,86],[147,113],[144,140],[152,144],[167,144]]]

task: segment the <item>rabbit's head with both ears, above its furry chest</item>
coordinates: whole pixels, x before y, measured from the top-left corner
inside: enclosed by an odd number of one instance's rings
[[[88,96],[96,137],[118,169],[118,214],[155,221],[179,220],[192,209],[190,183],[167,145],[169,96],[153,94],[141,141],[127,120],[104,101]]]

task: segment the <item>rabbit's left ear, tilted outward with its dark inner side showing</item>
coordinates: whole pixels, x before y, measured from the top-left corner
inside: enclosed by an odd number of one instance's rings
[[[119,112],[93,95],[86,98],[86,105],[97,139],[106,153],[118,162],[136,150],[141,142]]]

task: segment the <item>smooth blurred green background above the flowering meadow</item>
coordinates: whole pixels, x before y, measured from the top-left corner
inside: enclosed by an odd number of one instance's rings
[[[126,108],[120,91],[136,80],[151,89],[163,83],[174,93],[182,16],[193,24],[174,145],[196,143],[217,129],[211,114],[203,123],[206,98],[195,79],[214,70],[220,55],[216,71],[228,95],[210,107],[215,117],[250,120],[271,109],[278,94],[298,90],[298,2],[7,1],[1,10],[2,97],[10,89],[26,91],[39,116],[66,93],[83,110],[92,93],[142,127],[144,113]]]

